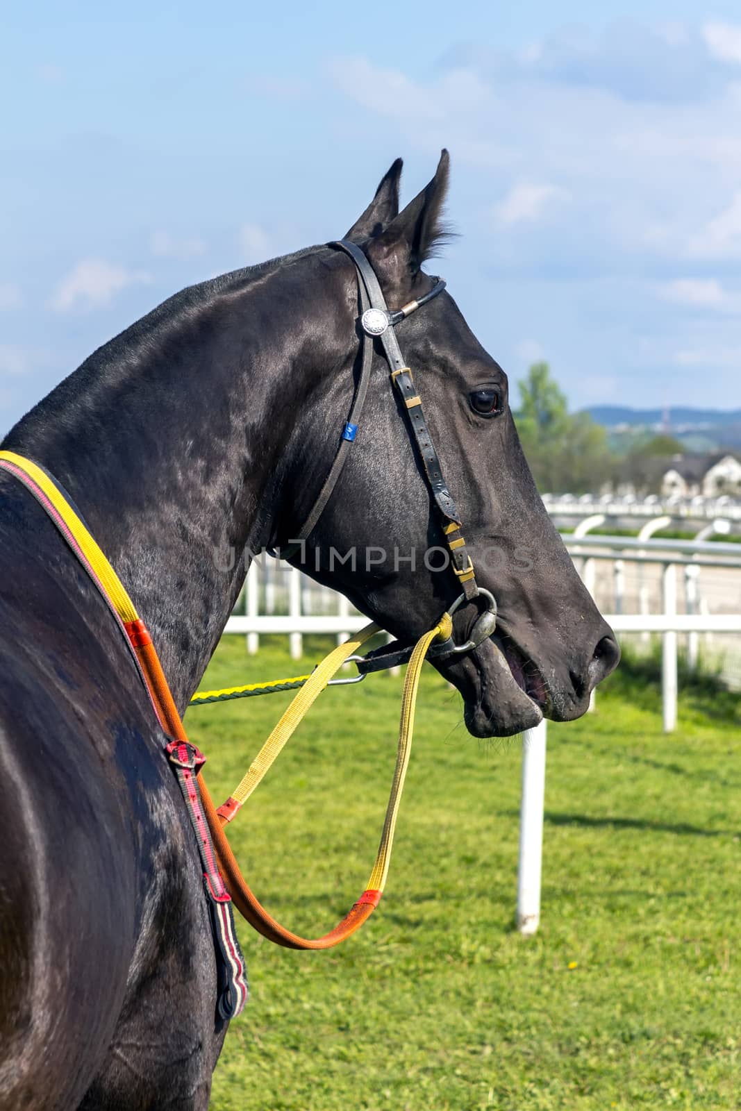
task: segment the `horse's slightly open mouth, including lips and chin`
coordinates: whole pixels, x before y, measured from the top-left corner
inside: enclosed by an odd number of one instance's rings
[[[550,712],[548,684],[533,661],[502,630],[465,655],[435,661],[458,688],[473,737],[512,737]]]

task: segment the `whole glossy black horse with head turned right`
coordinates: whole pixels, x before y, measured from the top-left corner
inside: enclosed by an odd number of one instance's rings
[[[401,214],[400,173],[397,161],[348,233],[392,309],[433,286],[421,268],[441,238],[448,156]],[[2,444],[71,494],[181,711],[243,580],[224,552],[286,544],[324,481],[357,317],[354,266],[332,247],[217,278],[107,343]],[[507,378],[447,293],[398,334],[500,611],[493,638],[438,667],[478,737],[577,718],[618,648],[538,497]],[[353,451],[293,562],[409,642],[457,589],[422,559],[441,537],[387,370],[377,352]],[[351,548],[385,554],[331,565]],[[458,611],[458,639],[475,614]],[[0,1105],[204,1108],[224,1031],[194,838],[119,630],[7,473],[0,628]]]

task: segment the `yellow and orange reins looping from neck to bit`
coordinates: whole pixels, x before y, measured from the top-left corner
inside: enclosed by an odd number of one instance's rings
[[[161,720],[163,718],[163,720],[170,723],[170,732],[184,738],[182,723],[180,722],[178,711],[172,702],[172,695],[167,684],[167,680],[161,671],[157,653],[153,645],[151,645],[151,642],[149,641],[146,627],[139,619],[137,610],[116,571],[86,528],[84,523],[77,516],[63,493],[49,478],[46,471],[31,460],[28,460],[22,456],[18,456],[12,451],[0,451],[0,462],[4,463],[6,468],[11,472],[12,470],[16,470],[17,472],[20,471],[33,481],[44,499],[42,504],[44,504],[44,502],[47,503],[47,511],[51,512],[53,518],[57,520],[58,527],[60,527],[72,550],[77,551],[78,554],[81,554],[83,560],[89,563],[93,579],[97,581],[100,591],[108,598],[114,612],[124,625],[129,639],[134,644],[134,649],[137,649],[136,654],[139,659],[140,667],[142,664],[142,659],[144,660],[142,678],[147,683],[158,715],[160,715]],[[354,930],[357,930],[359,925],[366,921],[372,910],[378,905],[389,871],[393,834],[399,813],[399,805],[401,802],[404,778],[409,764],[420,673],[424,662],[424,657],[427,655],[431,643],[438,638],[440,640],[447,640],[451,635],[452,619],[450,614],[443,613],[434,628],[430,629],[429,632],[425,632],[422,637],[420,637],[409,661],[402,693],[397,763],[393,772],[391,792],[389,795],[389,803],[385,811],[385,819],[383,822],[379,850],[375,857],[375,863],[373,864],[373,869],[368,881],[368,888],[358,902],[354,903],[346,918],[333,930],[331,930],[323,938],[307,940],[291,933],[283,927],[280,927],[268,914],[268,912],[260,907],[257,899],[252,895],[243,880],[239,865],[234,860],[233,853],[231,852],[220,827],[226,822],[231,821],[237,811],[261,782],[298,724],[301,722],[321,691],[324,690],[330,679],[344,663],[347,658],[352,655],[367,640],[379,631],[380,630],[375,624],[366,625],[366,628],[359,633],[330,652],[309,677],[301,675],[296,680],[290,680],[291,683],[301,682],[301,689],[282,714],[280,721],[270,733],[270,737],[250,764],[247,773],[243,775],[233,793],[222,807],[219,807],[218,811],[214,811],[213,803],[211,802],[211,797],[206,782],[203,781],[202,774],[199,775],[203,807],[209,821],[211,835],[213,838],[219,862],[226,874],[227,884],[234,904],[256,929],[263,933],[264,937],[276,941],[278,944],[301,949],[329,948],[354,932]],[[141,645],[137,644],[137,635],[142,632],[147,635],[143,650],[141,649]],[[254,684],[254,687],[258,685],[270,687],[276,684]],[[237,689],[232,688],[229,692],[210,691],[204,692],[200,697],[202,699],[207,699],[209,697],[224,693],[233,694],[234,690]],[[244,688],[242,688],[242,690],[244,690]],[[196,695],[196,701],[198,701],[198,698],[199,695]],[[163,714],[162,707],[164,707]]]

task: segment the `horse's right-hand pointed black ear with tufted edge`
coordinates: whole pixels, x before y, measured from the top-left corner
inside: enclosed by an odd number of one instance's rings
[[[368,247],[379,278],[395,293],[409,288],[425,259],[450,238],[442,221],[449,176],[450,156],[443,150],[432,181]]]

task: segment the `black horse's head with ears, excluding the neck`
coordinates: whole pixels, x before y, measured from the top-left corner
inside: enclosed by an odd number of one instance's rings
[[[445,238],[441,212],[448,153],[401,212],[400,173],[398,160],[346,237],[361,246],[391,310],[419,301],[435,287],[437,279],[422,267]],[[332,269],[334,328],[350,343],[358,373],[359,278],[344,257]],[[620,652],[535,489],[518,439],[507,374],[448,292],[411,313],[395,331],[458,507],[477,582],[494,595],[499,610],[493,634],[474,650],[437,659],[435,665],[463,695],[465,722],[477,737],[515,733],[542,715],[578,718]],[[342,590],[409,643],[454,602],[461,587],[409,434],[403,399],[391,389],[378,341],[377,348],[347,466],[293,562]],[[334,428],[341,427],[341,413],[334,412],[332,420]],[[310,459],[321,459],[324,471],[331,462],[328,423],[322,408],[321,419],[309,417],[302,424],[301,463],[292,476],[299,510],[309,503]],[[291,513],[293,529],[300,520]],[[474,601],[459,605],[458,642],[468,639],[480,613]]]

